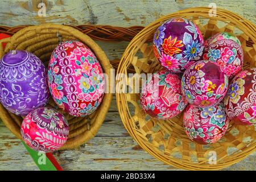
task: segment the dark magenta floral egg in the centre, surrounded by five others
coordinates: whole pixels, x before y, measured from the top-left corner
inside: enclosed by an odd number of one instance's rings
[[[192,64],[181,78],[181,90],[189,104],[209,107],[218,104],[228,91],[228,76],[211,61]]]

